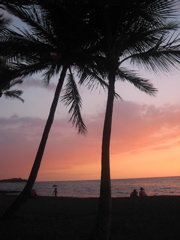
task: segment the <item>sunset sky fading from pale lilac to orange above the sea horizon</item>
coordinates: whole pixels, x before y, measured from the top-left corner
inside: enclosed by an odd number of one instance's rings
[[[128,83],[117,82],[122,100],[114,103],[111,134],[111,178],[179,176],[180,70],[152,74],[158,89],[148,96]],[[49,113],[58,76],[45,86],[34,75],[17,86],[24,103],[0,98],[0,179],[28,178]],[[101,142],[106,92],[81,87],[86,136],[69,122],[68,109],[59,101],[37,181],[100,179]]]

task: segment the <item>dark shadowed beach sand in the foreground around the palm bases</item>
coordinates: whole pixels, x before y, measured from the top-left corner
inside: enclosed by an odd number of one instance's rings
[[[15,196],[0,195],[0,215]],[[29,199],[18,218],[0,222],[1,240],[86,240],[96,198]],[[180,196],[112,199],[112,240],[180,239]]]

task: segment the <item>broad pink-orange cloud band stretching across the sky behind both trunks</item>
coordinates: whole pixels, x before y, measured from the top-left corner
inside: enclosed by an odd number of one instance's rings
[[[111,138],[113,154],[170,149],[180,141],[180,107],[155,107],[116,102]],[[68,119],[55,119],[42,161],[42,169],[56,171],[100,163],[104,113],[84,117],[88,135],[78,135]],[[0,118],[1,173],[27,178],[44,129],[39,118]],[[13,174],[14,173],[14,174]],[[5,178],[1,176],[0,178]]]

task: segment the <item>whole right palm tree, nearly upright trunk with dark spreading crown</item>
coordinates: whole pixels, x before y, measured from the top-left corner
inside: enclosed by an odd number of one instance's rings
[[[24,3],[24,1],[22,2]],[[54,1],[50,2],[52,3],[51,7],[56,5]],[[64,1],[60,2],[61,5],[65,3]],[[91,59],[90,66],[93,66],[93,72],[99,73],[100,77],[103,74],[105,77],[107,76],[108,84],[102,136],[100,198],[97,219],[89,239],[109,240],[111,229],[110,140],[115,83],[117,80],[128,81],[141,91],[153,96],[157,90],[148,79],[141,77],[138,71],[134,69],[143,66],[148,72],[157,73],[160,71],[167,73],[174,68],[178,68],[180,63],[180,40],[174,34],[178,24],[169,20],[175,14],[177,1],[128,0],[124,2],[120,0],[89,0],[83,2],[86,2],[86,4],[81,5],[81,7],[79,5],[82,12],[84,12],[84,17],[86,16],[86,18],[82,18],[81,15],[81,19],[86,23],[86,28],[82,32],[83,36],[88,35],[89,45],[86,45],[87,48],[81,49],[81,53],[83,53],[81,57],[87,56],[85,52],[88,52],[89,49],[88,56]],[[79,11],[78,8],[76,10]],[[54,22],[56,22],[58,18],[55,19],[55,15],[53,16]],[[72,23],[72,18],[69,20]],[[69,27],[72,27],[71,24],[69,24]],[[93,32],[95,35],[92,34]],[[58,40],[61,43],[61,37]],[[74,43],[74,41],[71,42],[72,39],[68,38],[68,40],[70,41],[68,44]],[[84,47],[83,44],[80,46]],[[57,53],[57,51],[54,52]],[[50,50],[50,53],[52,53],[52,50]],[[58,52],[56,57],[61,56],[59,53],[61,52]],[[71,55],[70,59],[72,58]],[[52,61],[52,59],[50,60]],[[66,62],[65,59],[62,60],[63,63]],[[69,65],[71,65],[69,62],[68,65],[65,65],[66,70]],[[89,68],[85,66],[85,70],[83,73],[86,76]],[[33,170],[33,172],[35,171]]]

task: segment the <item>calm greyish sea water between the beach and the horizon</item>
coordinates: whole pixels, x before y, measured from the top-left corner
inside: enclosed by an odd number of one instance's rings
[[[0,183],[0,190],[21,191],[25,183]],[[99,180],[36,182],[34,189],[39,196],[53,196],[57,185],[58,196],[98,197]],[[114,179],[111,182],[112,197],[129,197],[133,189],[143,187],[149,196],[180,195],[180,177]]]

